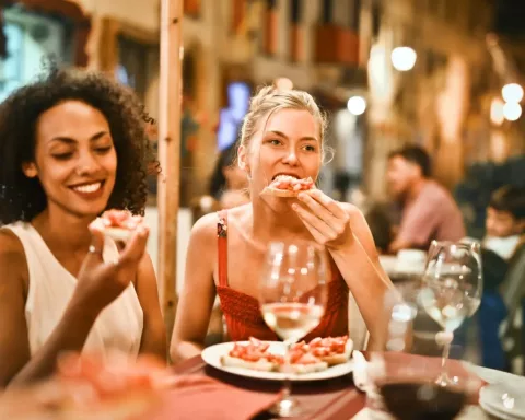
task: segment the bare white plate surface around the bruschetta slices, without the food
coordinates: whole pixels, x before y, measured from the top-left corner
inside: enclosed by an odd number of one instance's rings
[[[247,341],[238,341],[241,345],[247,343]],[[284,354],[284,345],[280,341],[269,341],[270,348],[269,351],[276,354]],[[313,373],[303,373],[303,374],[292,374],[287,375],[280,372],[259,372],[253,371],[250,369],[243,368],[231,368],[223,366],[221,363],[221,357],[228,354],[232,349],[234,342],[221,342],[220,345],[214,345],[206,348],[202,353],[202,360],[209,365],[219,369],[223,372],[233,373],[235,375],[254,377],[257,380],[270,380],[270,381],[283,381],[284,378],[290,378],[294,382],[306,382],[306,381],[323,381],[330,380],[334,377],[339,377],[349,374],[353,370],[353,361],[349,360],[347,363],[337,364],[335,366],[328,368],[322,372]]]

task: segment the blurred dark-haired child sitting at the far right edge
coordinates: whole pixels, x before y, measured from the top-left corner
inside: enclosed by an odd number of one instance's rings
[[[525,271],[516,270],[516,262],[525,257],[525,253],[518,252],[525,226],[524,192],[523,188],[503,186],[492,192],[486,210],[487,234],[481,247],[483,294],[477,315],[480,363],[502,371],[512,370],[512,350],[523,350],[522,323],[514,320],[516,314],[521,317],[525,287]],[[508,326],[501,329],[505,319]],[[509,328],[514,324],[517,328]],[[466,337],[458,336],[458,340],[465,341]],[[505,341],[510,345],[505,346]]]

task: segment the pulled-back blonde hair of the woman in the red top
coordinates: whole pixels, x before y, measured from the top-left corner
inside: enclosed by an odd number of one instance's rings
[[[278,90],[275,86],[264,86],[252,97],[248,113],[244,117],[241,128],[240,145],[248,148],[249,141],[257,131],[259,121],[265,117],[268,121],[273,113],[281,109],[307,110],[316,119],[319,126],[319,140],[324,155],[324,138],[327,127],[326,114],[319,109],[319,106],[310,93],[294,89]]]

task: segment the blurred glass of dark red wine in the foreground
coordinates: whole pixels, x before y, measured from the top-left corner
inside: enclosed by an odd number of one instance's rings
[[[386,294],[383,334],[368,364],[372,411],[398,420],[452,420],[468,404],[479,381],[457,366],[446,387],[436,383],[441,371],[440,328],[424,307],[424,284],[404,283]]]

